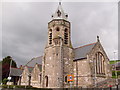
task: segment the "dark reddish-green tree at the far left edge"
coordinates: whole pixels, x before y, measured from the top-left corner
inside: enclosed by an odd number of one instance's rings
[[[12,59],[11,56],[7,56],[7,57],[3,58],[3,60],[2,60],[2,79],[7,78],[9,76],[10,63],[11,63],[11,67],[17,68],[17,64]]]

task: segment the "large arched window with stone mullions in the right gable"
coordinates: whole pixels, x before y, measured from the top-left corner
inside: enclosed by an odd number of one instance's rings
[[[105,74],[104,56],[101,52],[96,53],[96,73]]]

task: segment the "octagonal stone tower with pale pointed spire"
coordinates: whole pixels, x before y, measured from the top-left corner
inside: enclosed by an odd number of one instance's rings
[[[71,25],[61,3],[48,23],[48,41],[42,62],[42,87],[67,87],[67,75],[73,74]]]

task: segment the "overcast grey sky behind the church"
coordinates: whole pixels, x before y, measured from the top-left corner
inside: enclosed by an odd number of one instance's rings
[[[18,66],[43,55],[47,25],[57,2],[2,3],[2,57],[10,55]],[[63,2],[69,15],[73,47],[96,42],[97,35],[108,57],[118,52],[118,7],[113,2]],[[117,53],[115,55],[117,58]]]

